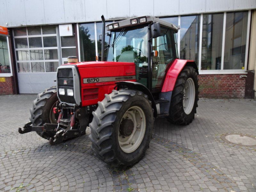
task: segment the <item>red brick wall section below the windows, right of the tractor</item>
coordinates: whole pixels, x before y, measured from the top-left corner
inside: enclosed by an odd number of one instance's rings
[[[240,75],[199,75],[199,97],[244,98],[245,78]]]

